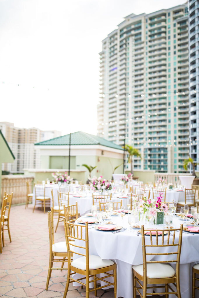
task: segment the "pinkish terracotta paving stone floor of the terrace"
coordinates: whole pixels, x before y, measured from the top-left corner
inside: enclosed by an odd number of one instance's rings
[[[10,211],[10,243],[4,232],[5,246],[0,255],[0,297],[24,298],[63,297],[67,270],[53,270],[48,291],[45,291],[49,264],[47,213],[36,209],[13,206]],[[55,241],[64,241],[64,226],[59,224]],[[55,264],[56,266],[56,264]],[[85,297],[85,288],[70,288],[67,298]],[[90,294],[94,297],[94,292]],[[112,289],[98,290],[98,297],[113,298]],[[154,296],[153,296],[154,297]],[[162,296],[163,297],[163,296]]]

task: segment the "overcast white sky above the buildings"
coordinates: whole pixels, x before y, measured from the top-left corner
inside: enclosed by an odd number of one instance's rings
[[[182,0],[0,0],[0,121],[96,134],[101,40]]]

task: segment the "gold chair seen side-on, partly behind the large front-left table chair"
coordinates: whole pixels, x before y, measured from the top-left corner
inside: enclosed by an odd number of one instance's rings
[[[48,212],[48,231],[49,231],[49,240],[50,240],[50,256],[49,256],[49,267],[48,267],[48,276],[46,281],[46,291],[48,290],[48,285],[51,277],[52,270],[61,270],[63,269],[64,263],[68,260],[67,257],[67,246],[66,241],[55,243],[54,240],[54,223],[53,223],[53,208]],[[54,259],[54,257],[59,257],[59,259]],[[53,268],[54,262],[61,262],[61,268]]]

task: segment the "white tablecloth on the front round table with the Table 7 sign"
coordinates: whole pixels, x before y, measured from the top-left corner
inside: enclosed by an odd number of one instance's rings
[[[85,219],[86,217],[84,217]],[[127,223],[127,216],[124,217],[124,223],[120,216],[111,216],[111,221],[121,226],[126,226],[127,230],[113,234],[111,231],[99,231],[93,228],[92,225],[88,227],[89,231],[89,254],[98,255],[101,259],[110,259],[117,264],[117,297],[132,298],[133,284],[132,284],[132,265],[139,265],[143,263],[141,235],[136,235],[136,229],[129,231]],[[174,226],[179,227],[182,221],[175,217]],[[147,225],[145,225],[147,227]],[[163,225],[153,226],[159,229]],[[176,232],[178,239],[179,233]],[[152,236],[153,237],[153,236]],[[160,236],[161,237],[161,236]],[[154,236],[155,238],[155,236]],[[172,238],[172,237],[171,237]],[[147,237],[146,244],[147,244]],[[148,238],[150,240],[150,237]],[[148,241],[149,241],[148,240]],[[191,233],[184,233],[182,237],[181,259],[180,259],[180,288],[181,297],[191,297],[192,290],[192,266],[199,262],[198,250],[199,233],[192,235]],[[169,252],[172,248],[159,248],[158,252],[163,249]],[[73,259],[78,255],[73,255]],[[157,256],[154,258],[156,259]],[[150,256],[152,259],[152,256]],[[175,265],[171,264],[174,268]],[[78,274],[74,275],[78,278]],[[78,283],[74,283],[78,286]],[[103,284],[101,284],[103,285]],[[175,289],[175,287],[174,287]],[[159,292],[161,289],[155,289]],[[169,295],[173,297],[174,295]]]

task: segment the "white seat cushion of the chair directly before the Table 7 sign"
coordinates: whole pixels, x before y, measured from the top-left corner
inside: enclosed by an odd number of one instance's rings
[[[143,276],[143,264],[132,266],[138,274]],[[168,278],[175,275],[175,270],[169,264],[161,263],[147,263],[146,264],[146,277],[147,278]]]

